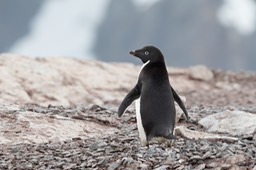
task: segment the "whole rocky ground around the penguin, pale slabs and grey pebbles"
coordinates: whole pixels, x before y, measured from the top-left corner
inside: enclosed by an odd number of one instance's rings
[[[142,147],[134,107],[116,114],[137,66],[7,56],[0,169],[256,169],[255,73],[168,68],[193,121],[178,116],[172,146]]]

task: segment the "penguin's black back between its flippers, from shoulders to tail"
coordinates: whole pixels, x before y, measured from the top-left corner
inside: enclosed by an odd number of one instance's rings
[[[168,75],[151,75],[142,81],[140,114],[149,138],[172,134],[176,111]]]

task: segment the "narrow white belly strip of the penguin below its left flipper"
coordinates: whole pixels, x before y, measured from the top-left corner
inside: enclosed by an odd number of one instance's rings
[[[141,120],[141,113],[140,113],[140,98],[135,101],[135,109],[136,109],[136,119],[137,119],[137,126],[139,131],[139,137],[142,145],[147,145],[147,137],[142,125]]]

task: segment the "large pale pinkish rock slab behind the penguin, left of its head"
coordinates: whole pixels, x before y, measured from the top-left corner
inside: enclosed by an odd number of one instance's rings
[[[2,54],[1,99],[44,106],[116,102],[132,88],[138,71],[132,64]]]

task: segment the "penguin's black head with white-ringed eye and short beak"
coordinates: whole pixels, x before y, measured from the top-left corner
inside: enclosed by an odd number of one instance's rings
[[[153,62],[164,62],[164,57],[161,51],[154,46],[145,46],[141,49],[130,51],[130,54],[141,59],[143,63],[150,61]]]

